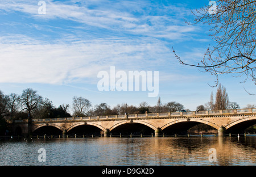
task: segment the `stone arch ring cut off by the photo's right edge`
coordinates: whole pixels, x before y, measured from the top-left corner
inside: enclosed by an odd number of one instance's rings
[[[232,129],[236,129],[240,127],[247,128],[247,127],[250,127],[250,125],[254,125],[254,124],[256,124],[256,115],[246,116],[242,119],[235,120],[232,123],[226,125],[225,129],[227,132],[229,132]]]

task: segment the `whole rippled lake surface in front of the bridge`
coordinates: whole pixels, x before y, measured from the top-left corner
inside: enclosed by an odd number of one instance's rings
[[[0,142],[0,165],[256,165],[256,136],[60,138]],[[46,162],[38,162],[38,149]],[[216,162],[209,149],[216,149]]]

